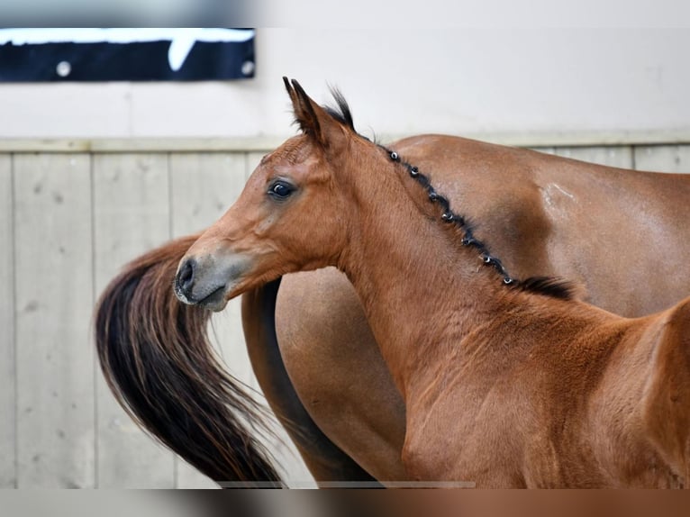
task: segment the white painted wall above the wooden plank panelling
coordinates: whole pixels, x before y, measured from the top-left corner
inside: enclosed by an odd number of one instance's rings
[[[284,136],[281,77],[327,83],[359,131],[690,129],[689,29],[259,29],[257,77],[225,83],[0,85],[0,138]]]

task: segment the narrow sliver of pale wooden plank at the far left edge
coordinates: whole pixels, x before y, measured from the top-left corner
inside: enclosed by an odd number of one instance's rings
[[[0,488],[16,486],[12,159],[0,155]]]

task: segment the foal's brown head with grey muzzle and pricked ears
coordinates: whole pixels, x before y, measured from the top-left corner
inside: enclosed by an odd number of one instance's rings
[[[360,146],[374,147],[352,127],[350,109],[322,108],[284,77],[301,134],[265,156],[239,199],[180,261],[177,297],[221,310],[228,299],[286,273],[333,264],[349,238],[355,210],[342,170]],[[340,179],[339,179],[340,176]]]

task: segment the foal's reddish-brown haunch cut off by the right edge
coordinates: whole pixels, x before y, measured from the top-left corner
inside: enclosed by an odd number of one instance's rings
[[[643,400],[650,440],[678,476],[690,483],[690,298],[662,313]]]

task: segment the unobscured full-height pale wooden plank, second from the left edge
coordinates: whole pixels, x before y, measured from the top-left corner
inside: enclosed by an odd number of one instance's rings
[[[14,202],[17,485],[92,487],[89,157],[16,155]]]

